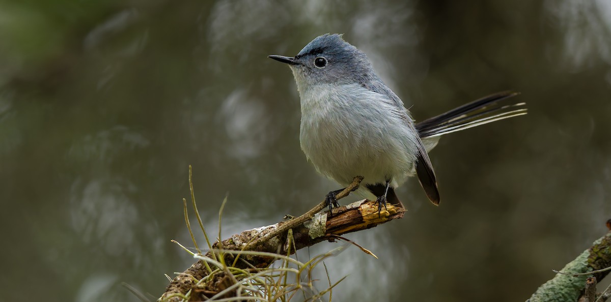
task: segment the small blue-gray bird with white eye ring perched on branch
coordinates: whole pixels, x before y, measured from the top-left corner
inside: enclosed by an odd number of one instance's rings
[[[301,97],[301,149],[316,170],[346,186],[364,176],[357,193],[379,210],[401,202],[395,188],[414,173],[433,204],[437,180],[427,152],[440,135],[526,114],[524,103],[499,101],[500,92],[415,123],[403,102],[378,77],[367,56],[342,35],[316,37],[295,57],[271,55],[293,71]],[[343,190],[343,189],[342,189]],[[338,206],[327,194],[329,207]]]

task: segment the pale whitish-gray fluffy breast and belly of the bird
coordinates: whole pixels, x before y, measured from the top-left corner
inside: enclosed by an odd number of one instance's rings
[[[412,174],[417,134],[406,110],[358,84],[300,93],[301,148],[318,172],[341,185],[362,175],[364,184],[397,186]]]

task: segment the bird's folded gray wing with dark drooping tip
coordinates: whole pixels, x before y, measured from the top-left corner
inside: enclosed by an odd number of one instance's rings
[[[408,126],[417,133],[417,129],[414,126],[414,121],[409,116],[409,112],[403,106],[403,101],[395,95],[390,88],[388,88],[384,83],[376,79],[375,81],[370,81],[367,83],[361,83],[361,85],[372,92],[379,93],[381,95],[388,96],[393,103],[399,107],[401,110],[405,112],[404,119]],[[426,153],[425,147],[422,145],[422,140],[420,140],[420,135],[417,136],[417,160],[415,163],[416,173],[418,174],[418,180],[420,181],[420,185],[422,185],[422,189],[428,196],[428,199],[434,205],[439,205],[439,190],[437,190],[437,178],[435,177],[435,171],[433,170],[433,164],[431,164],[431,159],[428,158],[428,153]]]

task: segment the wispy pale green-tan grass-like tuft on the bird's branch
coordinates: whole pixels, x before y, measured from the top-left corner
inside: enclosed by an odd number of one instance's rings
[[[191,235],[191,240],[193,246],[195,247],[196,253],[192,252],[185,246],[180,243],[172,240],[172,242],[180,245],[186,253],[191,254],[194,258],[202,261],[205,264],[207,269],[207,276],[202,279],[194,281],[196,282],[196,286],[193,289],[189,290],[186,295],[180,295],[183,301],[189,301],[192,293],[195,291],[202,291],[209,298],[207,301],[293,301],[294,299],[299,301],[331,301],[333,288],[341,282],[344,278],[338,280],[337,282],[331,282],[329,278],[329,271],[327,271],[326,265],[324,265],[323,261],[328,259],[329,257],[335,256],[340,253],[342,250],[346,248],[346,245],[339,246],[338,248],[334,248],[327,253],[320,254],[312,257],[307,262],[300,262],[296,259],[296,257],[291,257],[290,254],[293,253],[294,243],[292,233],[289,232],[288,235],[288,245],[291,247],[287,254],[275,254],[275,253],[265,253],[258,251],[233,251],[233,250],[223,250],[222,248],[214,249],[213,245],[210,242],[210,237],[208,236],[208,232],[203,227],[202,218],[199,215],[199,211],[197,210],[197,203],[195,199],[195,193],[193,190],[193,184],[191,181],[191,167],[189,166],[189,187],[191,189],[191,204],[194,209],[195,216],[197,221],[199,222],[200,230],[203,232],[203,235],[206,239],[206,244],[208,246],[208,255],[206,256],[200,250],[199,245],[195,239],[195,235],[193,234],[191,223],[189,223],[189,214],[188,214],[188,205],[187,201],[183,199],[183,210],[185,213],[185,223],[189,234]],[[221,218],[222,212],[227,203],[227,198],[223,201],[221,205],[221,209],[219,210],[219,223],[218,223],[218,239],[220,239],[221,235]],[[219,240],[221,242],[221,240]],[[292,252],[291,252],[292,251]],[[227,264],[224,259],[227,259],[227,254],[232,254],[230,257],[235,259],[233,263]],[[238,268],[236,267],[236,262],[240,261],[239,259],[243,259],[244,257],[238,256],[265,256],[271,257],[275,259],[273,262],[274,265],[268,268],[255,268],[250,267],[248,269]],[[244,260],[241,260],[244,261]],[[320,268],[320,264],[323,264],[323,268],[326,271],[327,282],[324,286],[324,289],[319,290],[314,285],[315,279],[313,279],[313,270],[315,268]],[[169,278],[168,276],[168,279]],[[216,283],[217,285],[220,283],[224,284],[224,289],[218,292],[209,292],[209,285],[211,283]],[[320,283],[320,282],[318,282]],[[172,298],[175,296],[169,296],[166,298]]]

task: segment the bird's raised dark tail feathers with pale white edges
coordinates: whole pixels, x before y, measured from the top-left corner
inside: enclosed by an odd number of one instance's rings
[[[421,138],[437,137],[440,135],[473,128],[505,118],[525,115],[525,103],[502,105],[503,99],[519,95],[519,92],[499,92],[493,95],[456,107],[428,120],[415,124]]]

